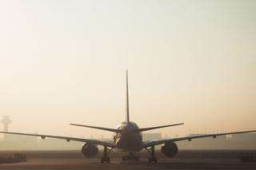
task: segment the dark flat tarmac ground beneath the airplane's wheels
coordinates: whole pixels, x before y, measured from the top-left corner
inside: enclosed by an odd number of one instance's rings
[[[124,153],[110,153],[110,164],[101,164],[100,157],[85,158],[79,151],[22,152],[28,160],[15,164],[0,164],[0,169],[256,169],[256,162],[241,162],[238,159],[249,151],[181,151],[174,158],[157,153],[158,164],[148,164],[146,152],[138,162],[122,162]],[[255,154],[256,151],[251,154]],[[11,152],[0,152],[0,156]]]

